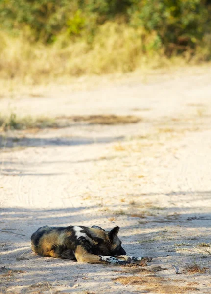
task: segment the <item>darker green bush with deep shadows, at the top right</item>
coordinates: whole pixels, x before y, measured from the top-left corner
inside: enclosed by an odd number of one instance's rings
[[[155,47],[165,52],[193,49],[207,30],[210,13],[200,0],[142,0],[129,14],[131,25],[143,26],[148,33],[156,32]]]

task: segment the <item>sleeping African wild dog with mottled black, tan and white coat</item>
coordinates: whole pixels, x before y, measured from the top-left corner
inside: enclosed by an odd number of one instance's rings
[[[41,256],[74,259],[88,263],[129,264],[150,262],[151,257],[125,255],[117,237],[119,227],[106,232],[98,226],[43,226],[31,236],[32,250]],[[116,256],[116,257],[115,257]]]

